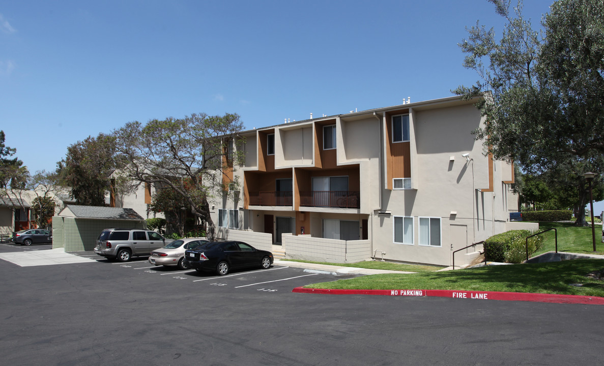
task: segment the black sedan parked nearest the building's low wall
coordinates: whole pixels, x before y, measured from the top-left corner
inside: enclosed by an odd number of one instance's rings
[[[185,262],[196,271],[216,271],[224,276],[237,268],[269,268],[272,253],[259,250],[240,241],[213,241],[199,245],[194,250],[185,251]]]

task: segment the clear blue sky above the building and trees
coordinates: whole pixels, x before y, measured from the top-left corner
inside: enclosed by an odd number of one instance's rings
[[[550,4],[524,14],[536,26]],[[479,19],[501,33],[486,0],[5,1],[0,129],[35,172],[129,121],[253,128],[451,96],[477,80],[457,43]]]

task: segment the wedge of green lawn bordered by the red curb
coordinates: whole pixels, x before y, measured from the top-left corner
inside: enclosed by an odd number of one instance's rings
[[[510,291],[604,297],[604,282],[588,277],[604,270],[604,259],[576,259],[553,263],[500,265],[466,270],[416,274],[374,274],[354,279],[315,283],[327,289],[448,289]],[[583,286],[572,286],[571,284]]]

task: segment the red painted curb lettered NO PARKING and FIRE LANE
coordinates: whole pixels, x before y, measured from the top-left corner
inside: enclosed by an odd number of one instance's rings
[[[292,292],[302,294],[332,295],[387,295],[387,296],[430,296],[450,298],[471,298],[475,300],[503,301],[536,301],[557,304],[595,304],[604,305],[604,297],[583,295],[533,294],[531,292],[497,292],[497,291],[453,291],[453,290],[367,290],[367,289],[324,289],[297,287]]]

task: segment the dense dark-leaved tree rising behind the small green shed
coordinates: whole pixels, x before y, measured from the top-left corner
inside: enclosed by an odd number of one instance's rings
[[[57,174],[77,204],[105,206],[111,189],[111,175],[123,164],[114,147],[115,138],[100,133],[88,136],[67,148],[65,159],[57,163]]]

